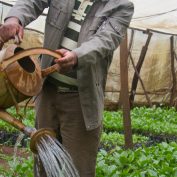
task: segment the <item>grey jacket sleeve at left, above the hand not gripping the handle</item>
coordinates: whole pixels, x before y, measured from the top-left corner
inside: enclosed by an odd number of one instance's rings
[[[42,14],[49,6],[50,0],[18,0],[11,8],[5,20],[9,17],[17,17],[25,27]]]

